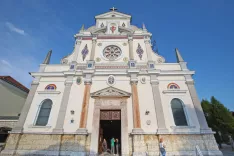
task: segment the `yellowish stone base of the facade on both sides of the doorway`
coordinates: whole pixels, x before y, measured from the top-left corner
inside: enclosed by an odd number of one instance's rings
[[[129,153],[124,156],[157,156],[159,155],[159,139],[163,138],[167,155],[195,156],[196,145],[204,156],[221,156],[215,138],[212,134],[137,134],[129,135]],[[92,153],[90,150],[91,135],[77,134],[10,134],[5,149],[5,155],[80,155]],[[98,145],[97,145],[98,146]]]

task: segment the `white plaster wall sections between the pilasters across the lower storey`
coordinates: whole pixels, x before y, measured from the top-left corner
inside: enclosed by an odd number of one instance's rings
[[[78,76],[74,76],[73,85],[71,87],[71,92],[68,101],[67,113],[64,120],[64,131],[65,132],[75,132],[79,128],[80,116],[82,110],[83,94],[84,94],[84,78],[82,77],[82,83],[77,84],[76,79]],[[146,83],[141,83],[141,78],[146,78]],[[92,85],[90,93],[99,91],[101,89],[109,87],[107,84],[108,76],[94,76],[92,77]],[[116,83],[113,87],[121,89],[123,91],[132,93],[130,78],[127,76],[115,76]],[[197,115],[193,106],[190,93],[188,91],[187,85],[185,83],[184,76],[159,76],[159,89],[161,94],[161,101],[163,105],[164,118],[166,121],[166,127],[170,132],[174,132],[173,126],[174,118],[171,110],[171,100],[173,98],[180,99],[184,104],[185,115],[187,117],[187,122],[190,128],[183,130],[187,132],[199,132],[199,123],[197,120]],[[25,122],[25,131],[29,132],[52,132],[53,128],[56,125],[57,117],[59,115],[59,108],[61,105],[61,99],[64,91],[64,82],[65,78],[51,77],[51,78],[41,78],[38,90],[33,99],[31,108],[27,120]],[[180,90],[184,90],[184,93],[164,93],[167,91],[167,85],[169,83],[177,83],[180,86]],[[57,86],[59,94],[39,94],[40,91],[45,91],[45,87],[48,84],[54,83]],[[144,132],[146,133],[155,133],[157,130],[157,118],[155,114],[155,106],[153,99],[152,86],[150,83],[150,77],[147,75],[142,75],[138,77],[138,97],[139,97],[139,107],[140,107],[140,117],[141,117],[141,126]],[[46,127],[37,127],[33,126],[36,122],[37,115],[41,103],[45,99],[51,99],[53,101],[53,106]],[[88,108],[88,120],[87,120],[87,129],[88,132],[92,132],[93,124],[93,112],[94,112],[94,102],[95,99],[90,97],[89,99],[89,108]],[[132,97],[127,99],[127,111],[128,111],[128,131],[132,132],[133,129],[133,114],[132,114]],[[74,114],[71,114],[71,111],[74,111]],[[148,115],[145,114],[146,111],[150,111]],[[71,123],[71,120],[74,120],[74,123]],[[150,123],[149,123],[150,122]],[[182,131],[182,130],[180,130]]]

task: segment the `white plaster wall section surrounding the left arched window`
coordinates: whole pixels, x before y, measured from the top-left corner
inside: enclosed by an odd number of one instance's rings
[[[62,96],[63,96],[63,92],[64,92],[64,82],[65,82],[65,78],[60,78],[60,77],[44,77],[41,78],[40,80],[40,84],[38,85],[37,88],[37,92],[34,95],[31,107],[29,109],[28,112],[28,116],[27,119],[25,121],[24,124],[24,131],[28,131],[28,132],[41,132],[41,131],[45,131],[45,132],[52,132],[52,129],[55,127],[56,122],[57,122],[57,117],[59,115],[59,108],[61,105],[61,100],[62,100]],[[57,90],[60,93],[57,94],[53,94],[53,92],[44,92],[45,91],[45,87],[48,84],[56,84],[57,86]],[[40,93],[42,92],[42,93]],[[38,126],[34,126],[39,110],[40,110],[40,106],[42,104],[42,102],[45,99],[51,99],[53,104],[52,104],[52,109],[50,112],[50,117],[49,117],[49,121],[46,127],[38,127]]]

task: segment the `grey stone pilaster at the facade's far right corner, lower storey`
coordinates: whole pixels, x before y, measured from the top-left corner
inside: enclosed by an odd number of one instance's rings
[[[194,87],[194,81],[187,80],[186,84],[188,85],[188,90],[189,90],[189,93],[191,95],[193,105],[194,105],[194,108],[195,108],[195,111],[197,114],[198,122],[199,122],[200,128],[201,128],[201,133],[212,133],[212,130],[208,127],[208,124],[206,122],[206,118],[205,118],[203,109],[201,107],[201,103],[199,101],[196,89]]]

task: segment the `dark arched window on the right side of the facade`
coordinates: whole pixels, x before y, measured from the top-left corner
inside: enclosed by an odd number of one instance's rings
[[[172,99],[171,109],[176,126],[187,126],[187,120],[183,108],[183,104],[179,99]]]

